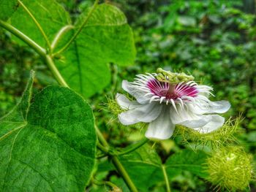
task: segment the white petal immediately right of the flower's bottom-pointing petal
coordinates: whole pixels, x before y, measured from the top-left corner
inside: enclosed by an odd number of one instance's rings
[[[187,120],[200,120],[201,115],[195,113],[195,109],[192,104],[185,103],[184,107],[181,105],[176,105],[176,109],[174,107],[170,107],[170,119],[173,124],[180,124]]]

